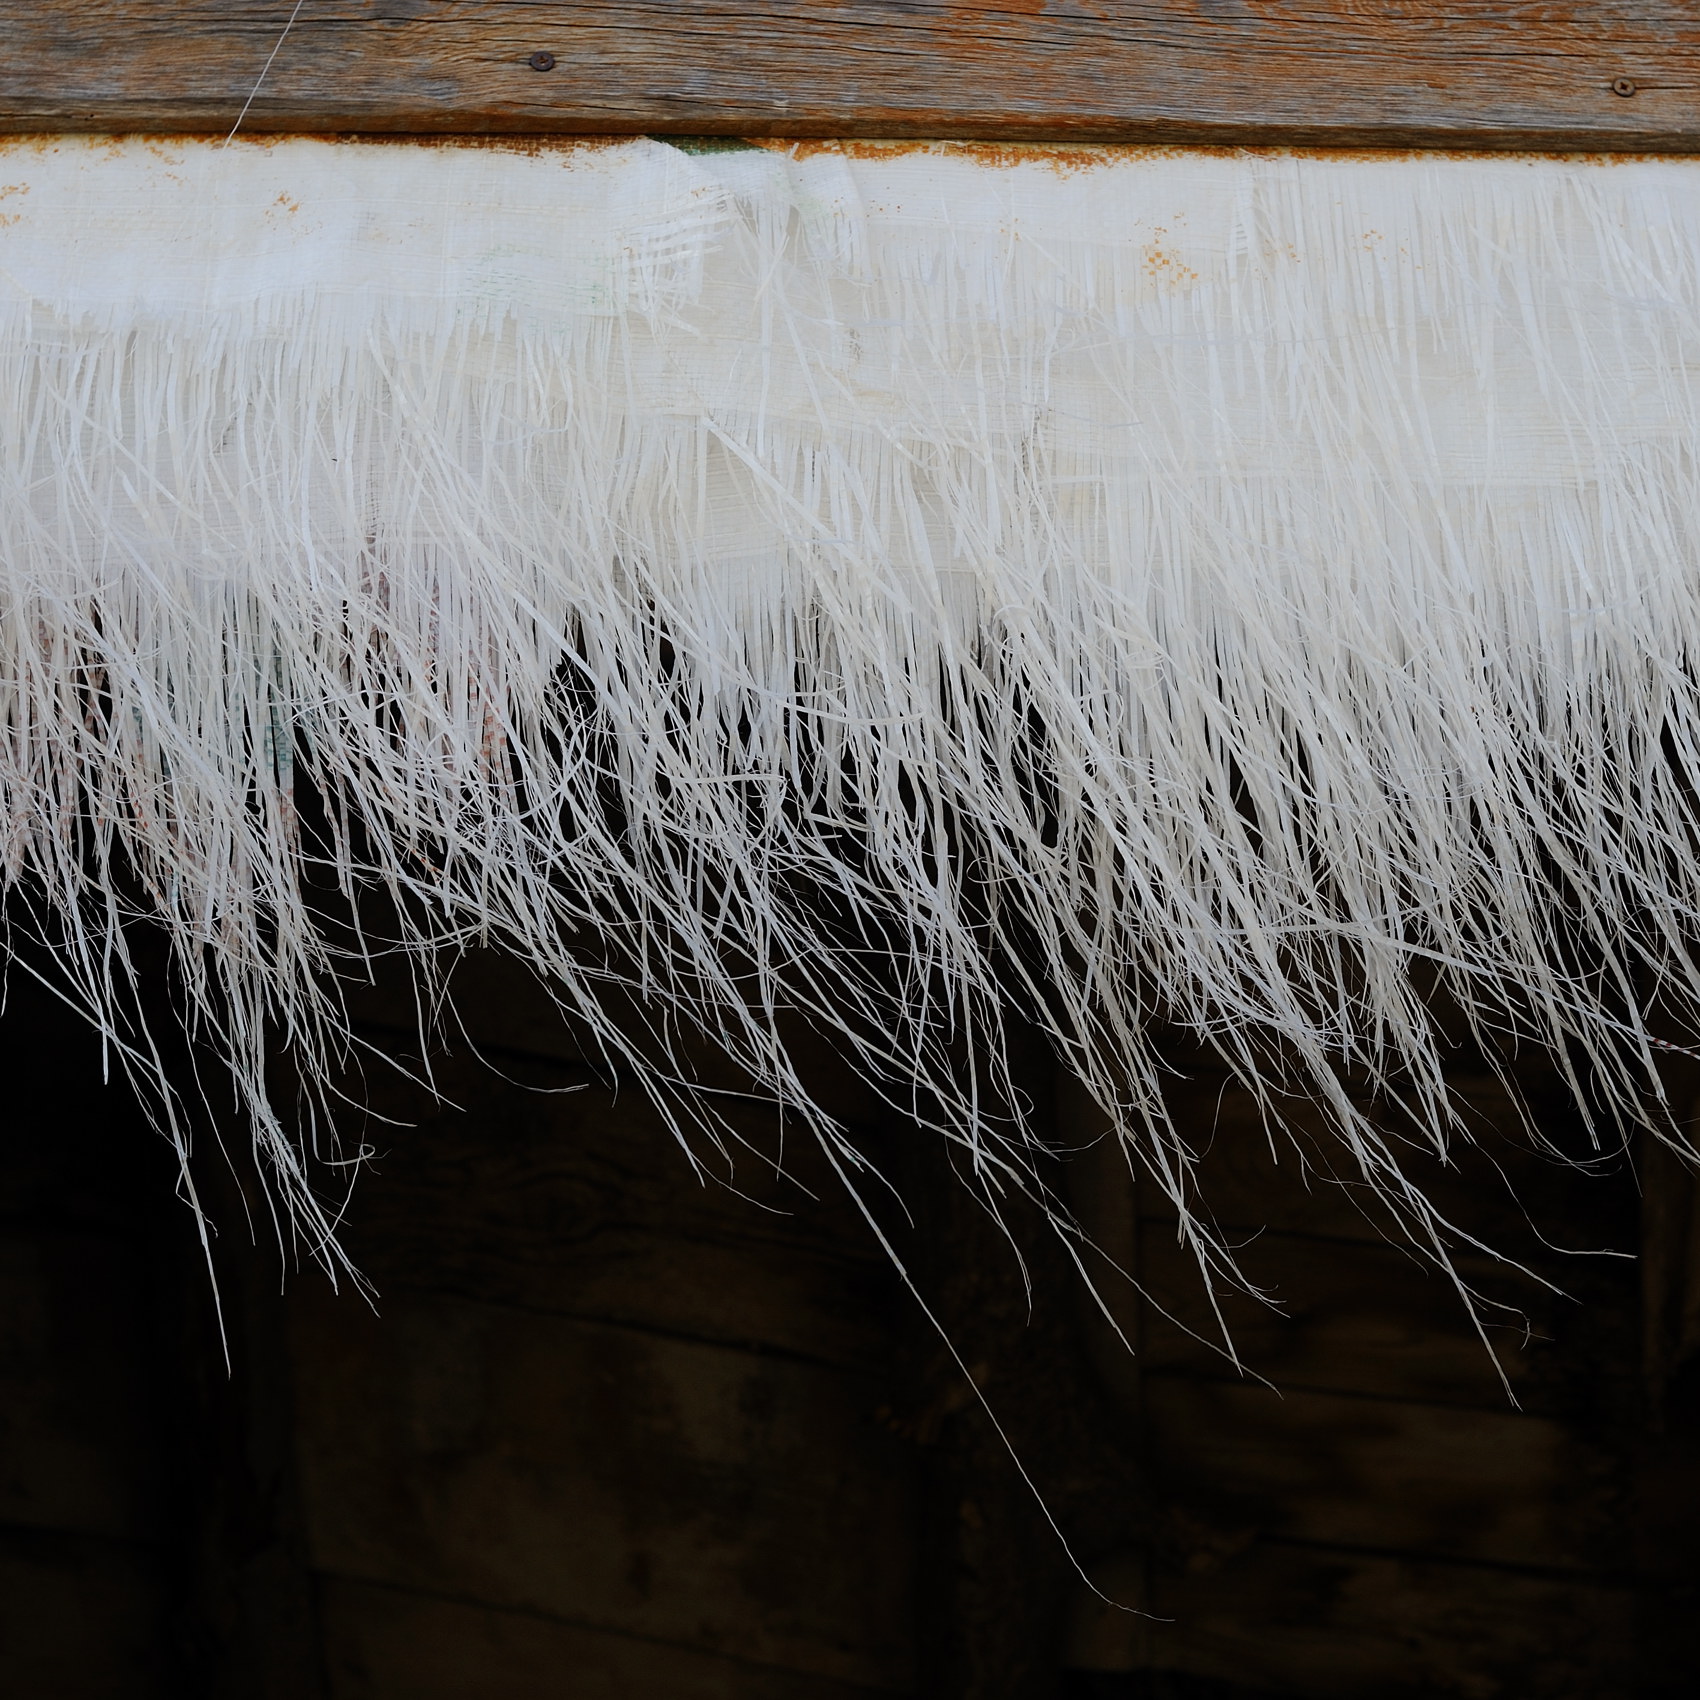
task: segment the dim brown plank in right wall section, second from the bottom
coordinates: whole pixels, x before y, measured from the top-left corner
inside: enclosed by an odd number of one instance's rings
[[[1547,1418],[1158,1374],[1144,1401],[1164,1491],[1239,1540],[1576,1572],[1629,1562],[1618,1460]]]

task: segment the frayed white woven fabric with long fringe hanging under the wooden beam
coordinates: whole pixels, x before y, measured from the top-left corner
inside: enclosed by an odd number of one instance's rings
[[[993,1197],[1012,1008],[1188,1224],[1159,1023],[1436,1250],[1430,993],[1629,1115],[1695,1020],[1700,163],[0,160],[3,877],[146,1069],[139,892],[316,1246],[303,780],[422,957],[629,1057],[612,938],[853,1166],[801,1012]]]

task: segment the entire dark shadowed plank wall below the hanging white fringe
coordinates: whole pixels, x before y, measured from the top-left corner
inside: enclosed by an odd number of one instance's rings
[[[1700,1658],[1700,1401],[1676,1170],[1656,1268],[1624,1159],[1528,1156],[1464,1069],[1484,1156],[1430,1183],[1489,1329],[1348,1193],[1272,1166],[1178,1057],[1209,1195],[1285,1314],[1209,1338],[1173,1221],[1059,1168],[1146,1299],[1129,1360],[1056,1246],[1006,1238],[932,1144],[816,1059],[904,1195],[916,1284],[1030,1470],[806,1151],[748,1108],[736,1192],[585,1068],[515,969],[462,983],[434,1102],[372,1071],[348,1248],[377,1299],[277,1290],[202,1161],[226,1377],[163,1144],[63,1013],[17,993],[0,1217],[0,1690],[264,1700],[1674,1700]],[[362,1005],[401,1044],[401,1000]],[[706,1062],[711,1068],[712,1064]],[[1023,1069],[1035,1093],[1047,1071]],[[1544,1129],[1579,1129],[1538,1076]],[[1066,1093],[1057,1129],[1090,1132]],[[1302,1120],[1302,1117],[1300,1117]],[[765,1153],[765,1156],[763,1156]],[[814,1197],[811,1197],[811,1192]],[[1674,1226],[1673,1226],[1674,1221]],[[1027,1304],[1025,1260],[1035,1292]],[[1688,1260],[1688,1261],[1685,1261]],[[1647,1285],[1651,1282],[1651,1285]],[[1644,1292],[1646,1289],[1646,1292]],[[1168,1312],[1168,1316],[1164,1316]],[[1649,1358],[1647,1334],[1663,1341]],[[1649,1365],[1652,1370],[1649,1372]],[[1256,1380],[1268,1379],[1273,1387]],[[1651,1379],[1649,1379],[1651,1375]]]

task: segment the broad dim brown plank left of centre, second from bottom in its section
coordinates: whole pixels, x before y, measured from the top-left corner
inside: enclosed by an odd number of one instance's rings
[[[809,1363],[408,1295],[296,1307],[309,1550],[410,1588],[913,1683],[913,1454]]]

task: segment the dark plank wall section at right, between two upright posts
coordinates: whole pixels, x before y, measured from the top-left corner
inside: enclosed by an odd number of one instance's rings
[[[1136,1637],[1141,1659],[1340,1700],[1646,1695],[1688,1680],[1700,1642],[1661,1673],[1666,1652],[1640,1624],[1654,1600],[1678,1608],[1661,1590],[1685,1561],[1640,1542],[1635,1265],[1554,1255],[1532,1229],[1634,1251],[1630,1166],[1586,1176],[1537,1159],[1506,1137],[1515,1110],[1491,1080],[1454,1085],[1482,1151],[1450,1173],[1413,1154],[1413,1170],[1460,1229],[1561,1289],[1454,1236],[1460,1277],[1489,1302],[1491,1355],[1382,1212],[1306,1187],[1295,1153],[1273,1161],[1243,1093],[1217,1096],[1209,1069],[1193,1081],[1187,1122],[1214,1139],[1209,1204],[1280,1309],[1226,1306],[1238,1374],[1173,1214],[1142,1200],[1139,1416],[1166,1506],[1124,1564],[1142,1562],[1142,1598],[1170,1622]],[[1542,1110],[1581,1151],[1556,1090]],[[1692,1588],[1685,1601],[1692,1613]]]

